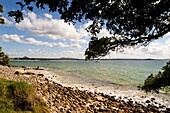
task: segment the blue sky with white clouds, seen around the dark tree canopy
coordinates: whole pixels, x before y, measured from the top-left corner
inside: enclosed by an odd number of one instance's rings
[[[48,9],[24,10],[24,20],[15,23],[8,17],[10,10],[19,9],[16,0],[0,0],[4,6],[2,13],[5,24],[0,25],[0,46],[9,57],[31,58],[85,58],[90,34],[85,28],[90,21],[68,24],[60,19],[58,13],[49,13]],[[98,36],[110,35],[103,29]],[[170,32],[146,47],[125,48],[123,52],[111,52],[104,58],[170,58]]]

